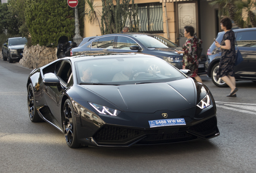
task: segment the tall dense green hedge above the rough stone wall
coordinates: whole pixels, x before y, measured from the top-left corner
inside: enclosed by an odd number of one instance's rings
[[[66,0],[27,0],[26,24],[33,45],[58,44],[60,36],[74,36],[74,10]]]

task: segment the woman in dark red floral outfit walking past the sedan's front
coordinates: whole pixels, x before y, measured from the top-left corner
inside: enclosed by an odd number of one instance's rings
[[[188,38],[182,47],[182,51],[178,50],[178,54],[183,54],[183,69],[192,71],[192,75],[196,81],[202,83],[202,79],[197,75],[198,72],[198,57],[197,57],[197,44],[202,44],[202,40],[194,37],[194,28],[192,26],[184,27],[184,36]]]

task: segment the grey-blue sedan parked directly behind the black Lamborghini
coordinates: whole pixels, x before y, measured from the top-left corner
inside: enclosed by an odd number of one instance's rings
[[[86,54],[95,51],[109,52],[140,52],[151,54],[162,58],[182,69],[182,54],[175,52],[175,49],[181,50],[177,44],[155,34],[147,33],[118,33],[98,36],[86,42],[82,46],[72,48],[71,55]],[[204,62],[205,54],[201,54],[198,64],[198,74],[205,74]]]

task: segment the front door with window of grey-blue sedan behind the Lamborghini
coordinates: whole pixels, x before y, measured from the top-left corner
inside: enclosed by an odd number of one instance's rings
[[[117,36],[114,52],[138,52],[138,50],[131,50],[130,46],[139,46],[139,44],[127,36]]]

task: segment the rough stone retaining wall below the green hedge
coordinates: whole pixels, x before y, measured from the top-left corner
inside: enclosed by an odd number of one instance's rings
[[[27,68],[38,68],[48,64],[57,59],[56,56],[57,48],[48,48],[46,46],[24,47],[23,58],[19,61],[24,67]]]

